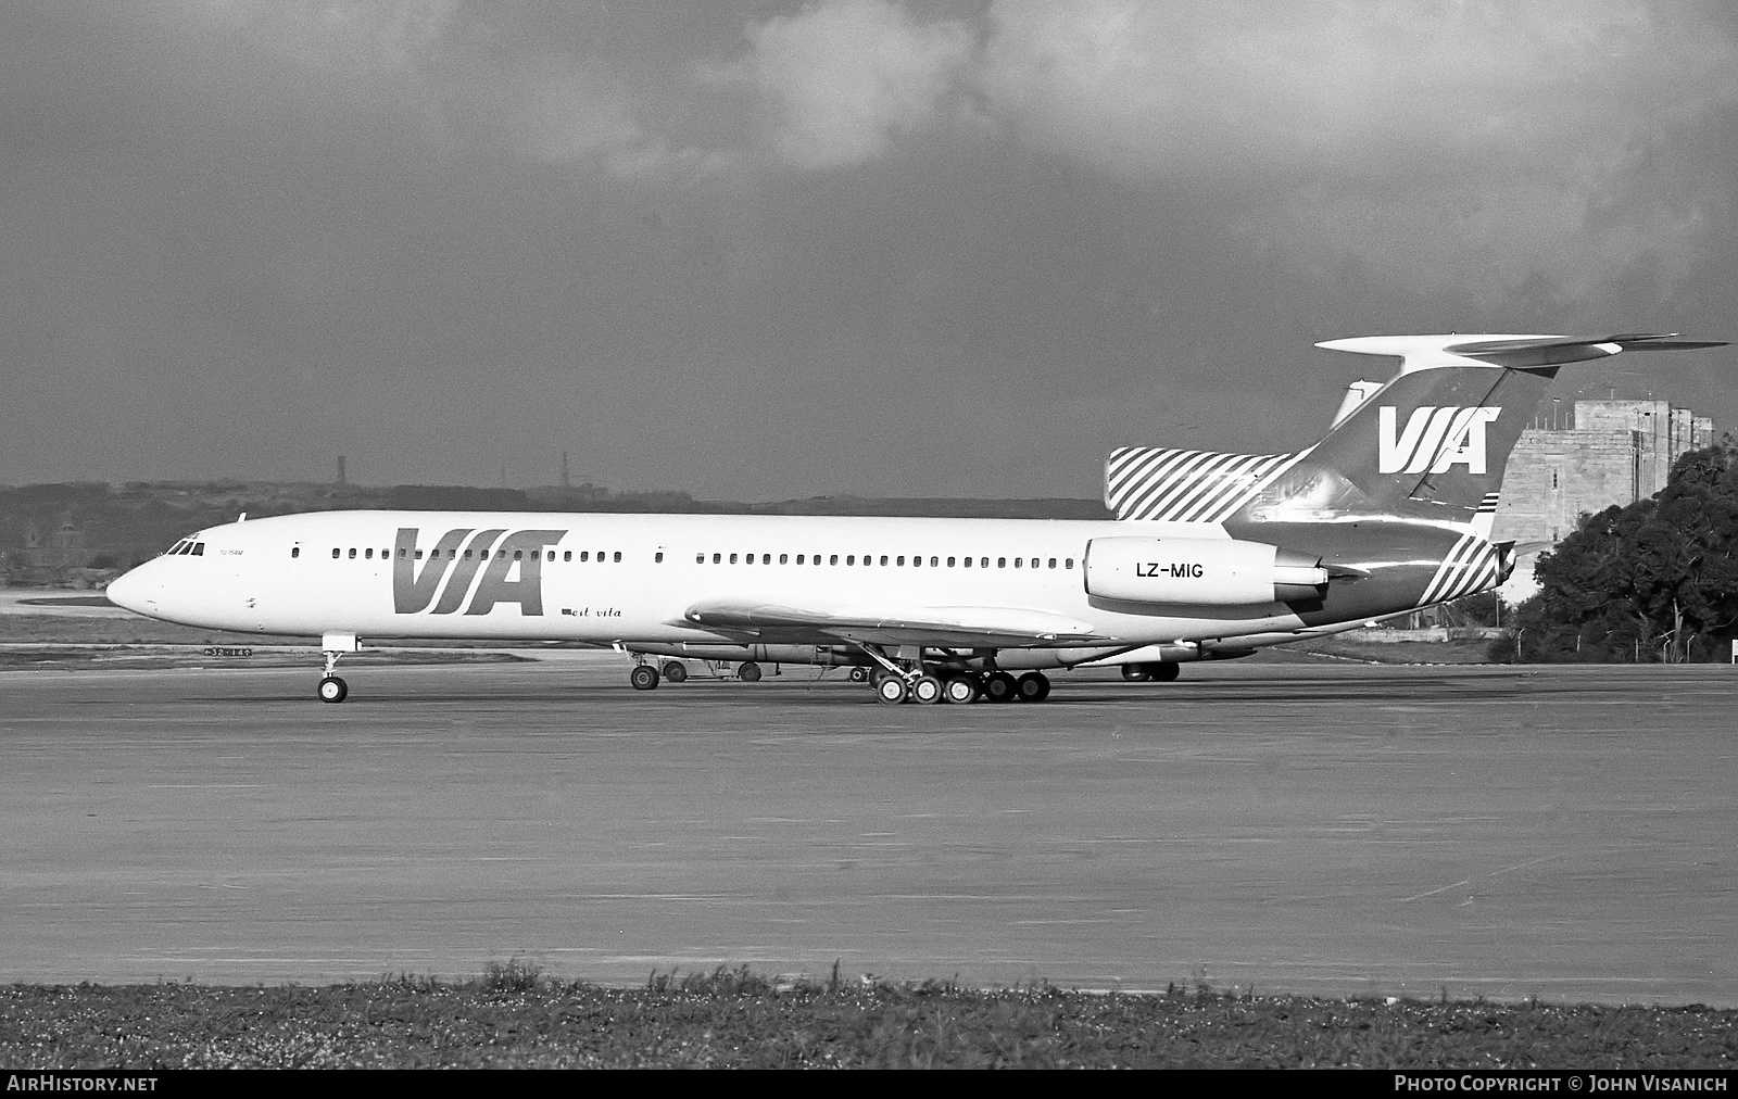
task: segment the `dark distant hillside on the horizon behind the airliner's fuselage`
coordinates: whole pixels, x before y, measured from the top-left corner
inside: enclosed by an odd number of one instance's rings
[[[676,511],[713,515],[918,515],[973,518],[1111,518],[1091,499],[878,499],[817,496],[766,504],[699,501],[687,492],[563,489],[476,489],[468,485],[315,485],[275,482],[73,482],[0,487],[0,576],[10,583],[57,584],[156,556],[184,534],[252,518],[342,508],[407,511]],[[52,541],[76,551],[49,558],[26,546]],[[75,576],[78,574],[78,576]]]

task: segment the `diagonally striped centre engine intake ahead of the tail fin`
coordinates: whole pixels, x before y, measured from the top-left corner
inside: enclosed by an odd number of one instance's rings
[[[1118,518],[1218,523],[1300,457],[1118,447],[1104,464],[1104,503]]]

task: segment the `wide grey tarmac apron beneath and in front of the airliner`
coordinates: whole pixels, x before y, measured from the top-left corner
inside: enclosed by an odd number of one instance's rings
[[[0,979],[749,963],[1738,1005],[1738,671],[1185,668],[879,706],[626,661],[0,673]]]

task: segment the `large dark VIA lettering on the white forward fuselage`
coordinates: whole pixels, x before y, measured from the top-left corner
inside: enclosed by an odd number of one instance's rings
[[[476,530],[464,527],[448,530],[429,551],[422,569],[417,569],[417,527],[398,529],[398,553],[393,556],[393,612],[421,614],[434,605],[433,614],[454,614],[471,591],[471,581],[483,579],[471,595],[466,614],[488,614],[495,603],[518,603],[521,616],[542,614],[542,560],[544,550],[554,546],[567,530]],[[474,532],[474,534],[473,534]],[[506,537],[501,537],[506,534]],[[469,543],[466,537],[469,536]],[[501,539],[497,544],[495,539]],[[461,553],[459,546],[464,544]],[[554,555],[551,555],[554,556]],[[507,579],[518,570],[518,579]],[[447,581],[448,574],[452,576]],[[447,581],[441,591],[441,581]],[[434,595],[440,593],[440,602]]]

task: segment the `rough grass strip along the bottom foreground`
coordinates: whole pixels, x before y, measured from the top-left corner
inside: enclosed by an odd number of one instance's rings
[[[1543,1002],[1098,995],[1036,984],[641,988],[542,976],[0,988],[0,1064],[49,1068],[1719,1068],[1738,1012]]]

